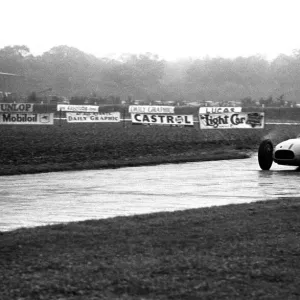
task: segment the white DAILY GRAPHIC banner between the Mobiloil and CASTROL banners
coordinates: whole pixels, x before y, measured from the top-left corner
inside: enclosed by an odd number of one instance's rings
[[[111,113],[67,113],[68,123],[120,122],[120,112]]]

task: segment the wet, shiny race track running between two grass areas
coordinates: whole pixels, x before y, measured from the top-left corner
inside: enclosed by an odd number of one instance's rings
[[[296,167],[257,157],[115,170],[2,176],[0,231],[300,195]]]

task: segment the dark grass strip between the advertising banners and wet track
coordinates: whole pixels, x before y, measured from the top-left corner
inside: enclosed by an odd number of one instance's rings
[[[296,137],[299,125],[200,130],[130,124],[0,126],[0,175],[244,158],[266,137]]]

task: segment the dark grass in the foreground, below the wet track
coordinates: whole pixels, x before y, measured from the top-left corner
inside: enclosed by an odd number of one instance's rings
[[[0,235],[0,299],[299,299],[300,198]]]

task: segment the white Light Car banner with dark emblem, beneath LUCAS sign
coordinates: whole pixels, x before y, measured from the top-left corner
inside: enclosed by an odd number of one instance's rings
[[[199,115],[200,129],[264,128],[264,113],[223,113]]]

